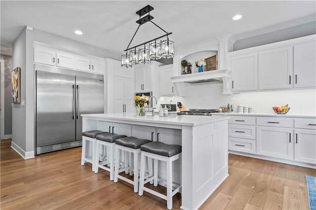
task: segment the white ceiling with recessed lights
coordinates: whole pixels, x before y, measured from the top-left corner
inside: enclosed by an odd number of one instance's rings
[[[1,53],[28,25],[89,45],[121,53],[135,33],[136,11],[150,4],[153,22],[167,32],[175,47],[232,34],[237,39],[316,20],[316,1],[11,1],[1,0]],[[232,17],[241,14],[240,20]],[[83,35],[75,35],[80,30]],[[138,30],[131,46],[164,35],[152,23]]]

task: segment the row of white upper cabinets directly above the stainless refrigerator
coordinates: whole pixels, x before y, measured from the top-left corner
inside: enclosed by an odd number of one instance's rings
[[[68,53],[56,47],[41,47],[40,43],[34,47],[34,62],[97,74],[104,74],[105,66],[103,58]]]

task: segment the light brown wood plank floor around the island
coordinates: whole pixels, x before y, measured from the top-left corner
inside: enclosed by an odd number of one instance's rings
[[[81,147],[24,160],[10,145],[0,144],[1,210],[166,209],[166,201],[147,192],[140,197],[132,185],[110,181],[108,172],[81,166]],[[305,175],[316,170],[230,154],[229,174],[200,209],[309,209]],[[180,206],[178,193],[173,209]]]

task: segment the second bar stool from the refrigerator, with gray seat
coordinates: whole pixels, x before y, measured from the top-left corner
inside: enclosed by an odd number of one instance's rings
[[[114,133],[99,134],[96,136],[96,146],[95,146],[95,169],[94,173],[98,173],[99,168],[110,172],[110,180],[114,179],[114,147],[115,140],[127,137],[125,135],[118,135]],[[104,145],[109,148],[109,154],[106,154],[106,161],[99,163],[99,146]],[[110,164],[110,168],[105,167],[105,165]]]

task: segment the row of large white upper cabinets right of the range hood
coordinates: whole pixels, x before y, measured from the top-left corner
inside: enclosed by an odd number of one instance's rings
[[[232,92],[316,86],[316,35],[229,52]]]

